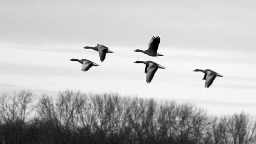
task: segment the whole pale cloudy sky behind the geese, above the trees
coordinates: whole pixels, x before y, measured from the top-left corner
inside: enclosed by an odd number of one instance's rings
[[[65,89],[118,92],[190,102],[212,114],[256,115],[255,1],[1,1],[0,93],[30,89],[56,96]],[[160,36],[158,53],[146,50]],[[100,62],[96,51],[108,46]],[[81,71],[71,58],[100,66]],[[144,64],[158,69],[146,83]],[[204,87],[204,74],[217,77]]]

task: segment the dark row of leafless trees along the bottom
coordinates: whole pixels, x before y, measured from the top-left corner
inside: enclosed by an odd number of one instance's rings
[[[71,90],[0,97],[0,143],[256,143],[248,114],[208,116],[191,104]]]

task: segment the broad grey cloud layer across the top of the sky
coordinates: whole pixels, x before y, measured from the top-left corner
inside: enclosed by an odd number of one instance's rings
[[[0,7],[2,42],[33,45],[104,43],[143,46],[153,35],[161,45],[255,53],[255,2],[50,2]],[[97,6],[97,9],[95,9]],[[12,11],[15,9],[15,11]],[[159,9],[159,11],[152,11]]]

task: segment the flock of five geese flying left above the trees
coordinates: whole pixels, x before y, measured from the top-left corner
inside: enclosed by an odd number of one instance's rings
[[[148,49],[143,51],[143,50],[135,50],[134,52],[141,52],[144,53],[148,56],[152,56],[152,57],[158,57],[158,56],[163,56],[159,53],[157,53],[158,50],[158,46],[160,43],[160,37],[159,36],[153,36],[152,39],[150,40],[150,42],[148,43]],[[100,61],[103,62],[105,60],[106,57],[106,53],[114,53],[112,51],[109,50],[109,47],[106,47],[102,44],[97,44],[97,46],[92,47],[92,46],[86,46],[83,47],[84,49],[93,49],[94,51],[97,51],[99,53],[99,58]],[[92,66],[99,66],[97,63],[92,62],[90,60],[87,59],[70,59],[71,61],[78,61],[79,63],[82,64],[82,71],[87,71],[89,70]],[[146,65],[145,67],[145,74],[146,74],[146,82],[150,83],[157,71],[158,68],[162,68],[165,69],[164,66],[154,62],[154,61],[135,61],[134,63],[144,63]],[[209,88],[212,84],[212,82],[214,82],[216,77],[223,77],[222,75],[220,75],[219,73],[216,73],[213,70],[210,69],[195,69],[194,71],[201,71],[204,73],[204,77],[203,80],[205,80],[205,87]]]

